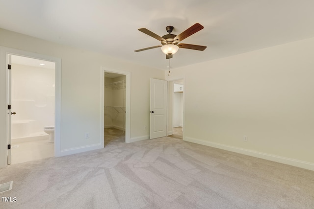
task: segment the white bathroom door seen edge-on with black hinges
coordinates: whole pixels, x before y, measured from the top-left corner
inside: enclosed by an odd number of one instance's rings
[[[7,95],[7,103],[8,103],[8,165],[11,164],[11,55],[8,55],[8,95]]]

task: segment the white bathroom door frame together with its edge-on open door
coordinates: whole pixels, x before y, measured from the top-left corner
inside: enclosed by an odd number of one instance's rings
[[[50,61],[55,64],[54,156],[61,156],[61,58],[0,46],[0,168],[11,164],[11,121],[9,120],[12,111],[9,108],[11,104],[8,104],[10,76],[8,69],[11,64],[9,55]]]

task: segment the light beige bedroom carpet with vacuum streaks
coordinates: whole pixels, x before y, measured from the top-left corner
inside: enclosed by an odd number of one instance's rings
[[[314,171],[169,137],[10,165],[2,209],[313,209]]]

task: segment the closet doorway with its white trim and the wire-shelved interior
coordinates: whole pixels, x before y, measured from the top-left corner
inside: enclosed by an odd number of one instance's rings
[[[101,67],[100,101],[102,145],[105,147],[109,138],[131,142],[131,72]]]

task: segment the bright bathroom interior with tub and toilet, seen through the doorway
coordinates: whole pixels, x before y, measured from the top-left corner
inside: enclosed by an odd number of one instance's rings
[[[8,56],[11,57],[8,88],[12,112],[11,164],[53,157],[55,63]]]

